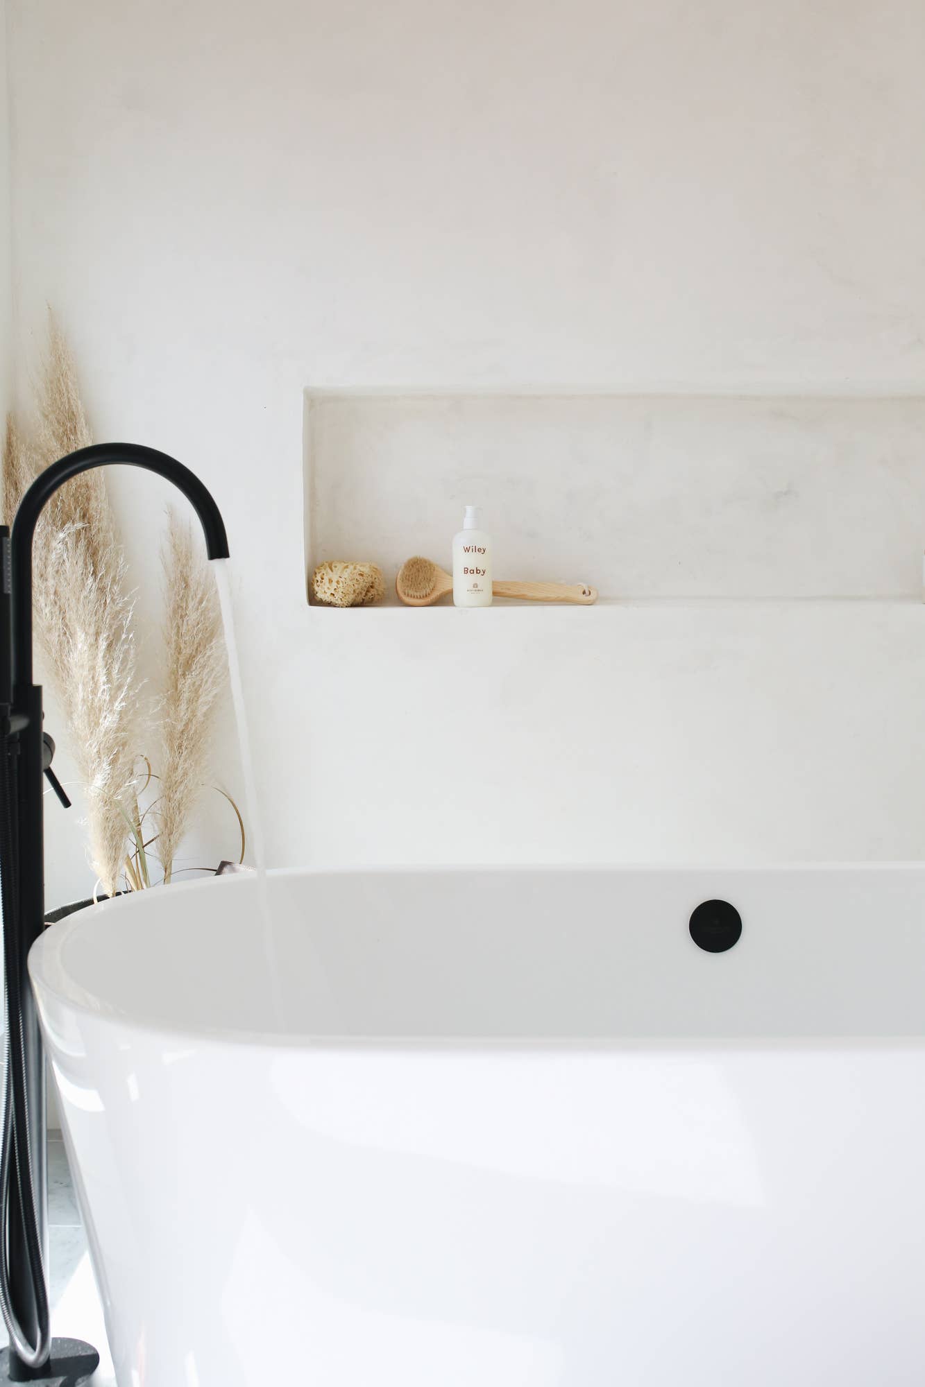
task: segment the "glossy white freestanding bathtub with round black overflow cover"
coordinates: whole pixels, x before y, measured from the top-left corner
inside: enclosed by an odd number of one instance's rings
[[[921,1387],[925,867],[269,892],[31,956],[119,1387]]]

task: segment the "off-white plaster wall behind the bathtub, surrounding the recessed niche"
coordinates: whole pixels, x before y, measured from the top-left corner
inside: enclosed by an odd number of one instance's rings
[[[322,621],[301,466],[306,387],[925,394],[918,0],[8,8],[19,395],[51,302],[219,498],[275,861],[919,853],[918,608]]]

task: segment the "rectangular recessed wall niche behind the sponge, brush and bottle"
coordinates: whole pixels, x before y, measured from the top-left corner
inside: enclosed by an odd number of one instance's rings
[[[925,399],[306,393],[306,567],[450,567],[600,598],[918,598]]]

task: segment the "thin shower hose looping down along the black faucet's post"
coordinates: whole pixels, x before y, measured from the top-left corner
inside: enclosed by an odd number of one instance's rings
[[[12,829],[11,745],[0,730],[0,904],[3,907],[3,971],[7,1019],[7,1062],[3,1104],[3,1143],[0,1147],[0,1311],[10,1334],[10,1345],[26,1368],[40,1368],[51,1350],[49,1293],[39,1239],[39,1221],[32,1183],[29,1151],[29,1114],[26,1103],[25,1040],[22,1032],[22,970],[17,921],[19,889],[17,881],[17,843]],[[17,1198],[12,1201],[15,1190]],[[18,1211],[21,1243],[36,1308],[36,1343],[29,1343],[12,1305],[10,1286],[10,1221]]]

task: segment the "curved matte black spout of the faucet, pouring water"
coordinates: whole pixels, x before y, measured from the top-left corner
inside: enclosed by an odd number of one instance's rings
[[[124,463],[129,467],[143,467],[158,477],[172,481],[188,498],[200,519],[206,534],[206,552],[210,559],[228,558],[228,535],[221,512],[212,501],[208,488],[196,473],[185,467],[176,458],[144,448],[136,442],[94,442],[89,448],[60,458],[40,473],[17,510],[10,541],[12,569],[12,682],[14,688],[32,684],[32,537],[36,522],[46,501],[81,472],[90,467],[104,467],[110,463]]]

